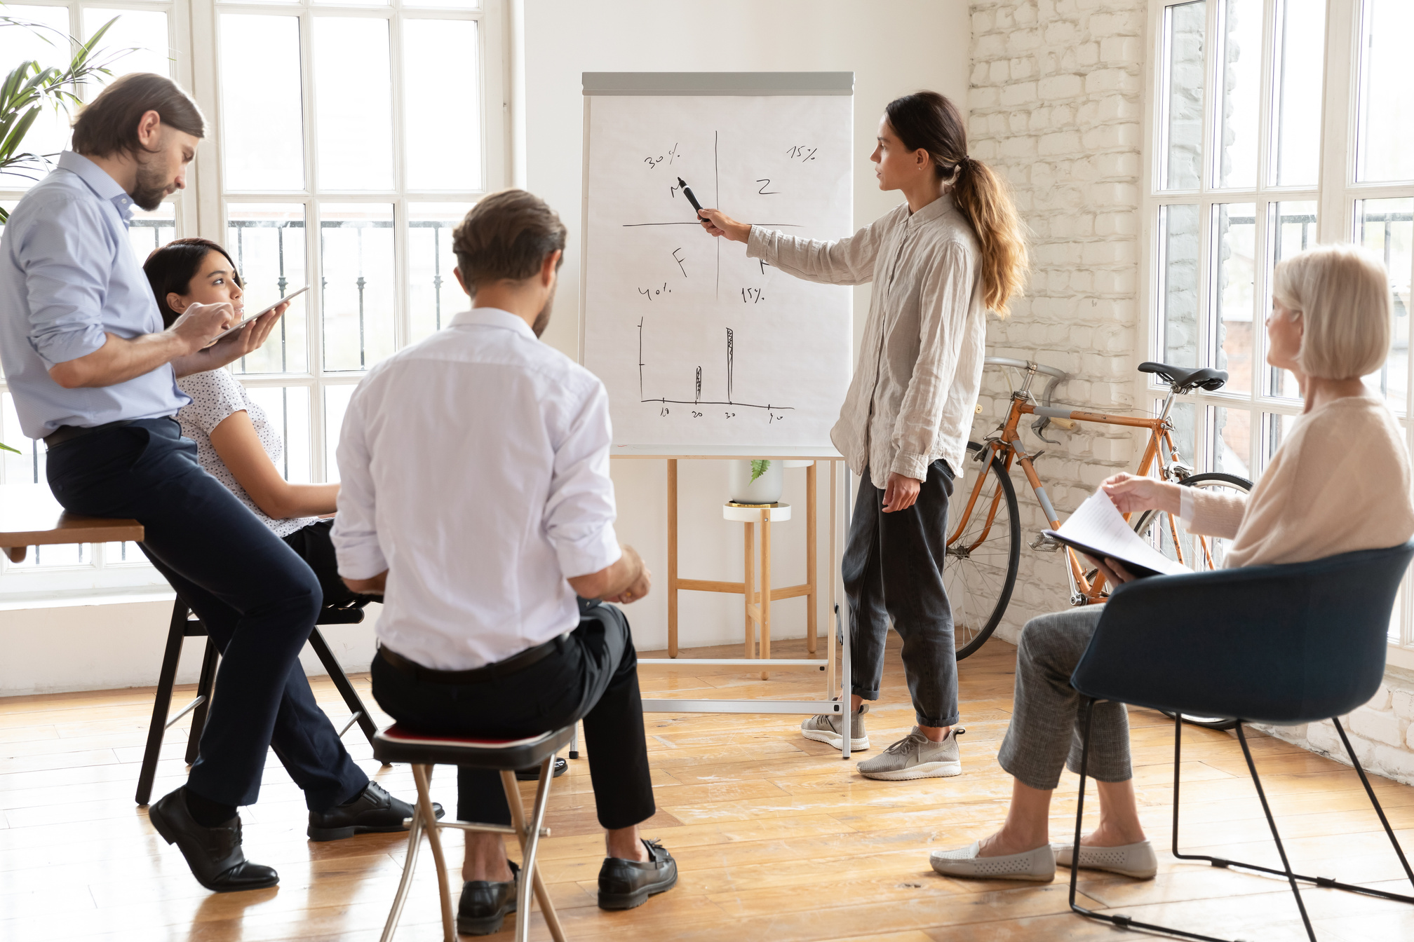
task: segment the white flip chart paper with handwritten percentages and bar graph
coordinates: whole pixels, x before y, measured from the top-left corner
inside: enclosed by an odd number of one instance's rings
[[[585,97],[584,364],[617,445],[829,445],[850,290],[790,277],[694,222],[851,234],[848,95]]]

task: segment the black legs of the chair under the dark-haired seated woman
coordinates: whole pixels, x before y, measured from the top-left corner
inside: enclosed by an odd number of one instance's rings
[[[339,736],[349,732],[354,723],[363,730],[363,736],[372,744],[378,726],[369,716],[368,708],[359,698],[358,691],[349,684],[348,675],[339,667],[328,643],[320,634],[318,626],[324,624],[359,624],[363,621],[363,606],[373,599],[359,597],[339,606],[325,606],[320,610],[314,631],[310,633],[310,647],[320,655],[320,662],[329,672],[329,679],[338,689],[344,703],[349,708],[349,722],[339,730]],[[173,702],[173,686],[177,681],[177,664],[181,661],[182,641],[187,638],[206,638],[206,652],[201,660],[201,675],[197,681],[197,696],[191,703],[181,708],[175,716],[168,717]],[[187,713],[192,713],[191,733],[187,737],[187,764],[197,761],[197,750],[201,744],[201,730],[206,726],[206,710],[211,708],[211,688],[216,682],[216,665],[221,662],[221,652],[216,643],[206,636],[206,626],[192,616],[191,609],[181,596],[173,603],[173,619],[167,628],[167,651],[163,654],[163,669],[157,678],[157,699],[153,702],[153,719],[147,727],[147,749],[143,750],[143,765],[137,775],[137,804],[146,805],[153,795],[153,780],[157,777],[157,757],[163,749],[164,733]]]

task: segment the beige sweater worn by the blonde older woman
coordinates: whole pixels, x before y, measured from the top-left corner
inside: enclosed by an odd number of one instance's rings
[[[1184,490],[1189,532],[1232,539],[1229,568],[1379,549],[1414,535],[1404,434],[1374,395],[1302,415],[1250,494]]]

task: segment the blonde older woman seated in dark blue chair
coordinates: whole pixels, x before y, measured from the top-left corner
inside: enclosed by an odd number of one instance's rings
[[[1353,246],[1319,246],[1277,266],[1267,363],[1291,370],[1304,408],[1251,494],[1225,496],[1151,477],[1116,475],[1102,484],[1121,511],[1158,508],[1195,534],[1232,539],[1227,566],[1301,562],[1404,542],[1414,534],[1410,459],[1398,424],[1360,380],[1390,346],[1384,267]],[[1094,561],[1128,582],[1114,561]],[[969,847],[932,854],[949,877],[1049,881],[1070,866],[1052,849],[1051,794],[1060,768],[1079,770],[1080,698],[1070,674],[1102,609],[1032,619],[1017,652],[1015,709],[997,760],[1014,778],[1001,830]],[[1150,878],[1157,861],[1134,804],[1128,720],[1120,703],[1096,703],[1089,774],[1100,825],[1082,840],[1080,866]]]

